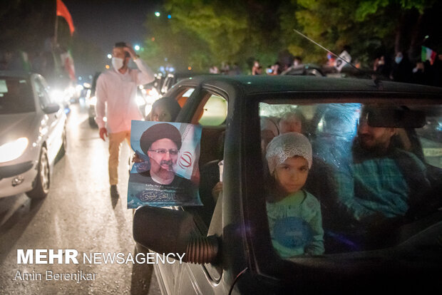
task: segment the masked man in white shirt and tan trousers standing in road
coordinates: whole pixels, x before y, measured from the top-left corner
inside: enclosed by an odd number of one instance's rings
[[[130,143],[131,120],[143,120],[135,101],[137,87],[155,79],[153,71],[124,42],[115,43],[113,69],[98,77],[96,86],[96,123],[100,138],[109,138],[109,182],[111,197],[118,197],[118,157],[123,140]],[[130,58],[138,69],[128,68]],[[107,122],[104,118],[106,117]]]

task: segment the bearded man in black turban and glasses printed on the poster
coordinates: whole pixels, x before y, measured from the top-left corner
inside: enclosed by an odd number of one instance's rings
[[[175,126],[169,123],[151,126],[141,135],[140,148],[149,157],[150,170],[131,173],[129,181],[146,185],[146,193],[140,194],[141,197],[149,195],[165,200],[173,194],[175,200],[185,202],[195,196],[192,182],[175,175],[174,166],[181,148],[181,133]]]

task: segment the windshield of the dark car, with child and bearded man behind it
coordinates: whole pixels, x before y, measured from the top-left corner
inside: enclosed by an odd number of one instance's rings
[[[441,207],[442,105],[259,103],[283,258],[393,247]]]

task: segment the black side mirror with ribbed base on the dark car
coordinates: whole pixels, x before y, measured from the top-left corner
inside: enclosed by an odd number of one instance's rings
[[[159,207],[140,207],[133,216],[133,239],[157,253],[185,254],[183,262],[215,262],[217,237],[197,234],[192,214]]]

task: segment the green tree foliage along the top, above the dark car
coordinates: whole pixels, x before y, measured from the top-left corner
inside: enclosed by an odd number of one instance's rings
[[[380,52],[419,50],[428,32],[440,35],[434,10],[442,12],[436,0],[165,0],[162,16],[148,16],[146,54],[200,70],[222,62],[250,68],[255,58],[262,66],[287,56],[326,61],[297,29],[336,53],[349,45],[369,63]]]

